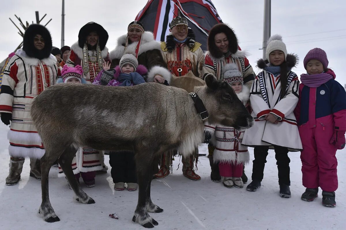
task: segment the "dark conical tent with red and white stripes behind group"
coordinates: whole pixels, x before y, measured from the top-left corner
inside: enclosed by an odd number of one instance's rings
[[[135,20],[142,22],[145,30],[153,31],[157,41],[165,41],[169,23],[178,13],[189,20],[196,41],[207,50],[209,30],[222,22],[211,0],[149,0]]]

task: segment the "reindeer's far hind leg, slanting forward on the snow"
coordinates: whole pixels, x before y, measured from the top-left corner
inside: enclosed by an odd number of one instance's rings
[[[75,199],[76,201],[82,202],[84,204],[93,204],[95,201],[88,196],[82,189],[79,183],[77,183],[77,179],[73,174],[73,170],[71,168],[71,163],[74,157],[74,154],[76,153],[75,148],[67,148],[64,153],[59,158],[59,164],[62,168],[62,170],[65,173],[65,176],[67,180],[70,183],[70,186],[72,190],[75,193]]]

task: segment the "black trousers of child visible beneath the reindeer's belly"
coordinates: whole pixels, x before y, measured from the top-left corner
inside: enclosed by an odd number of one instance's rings
[[[109,153],[110,170],[114,183],[137,183],[135,153],[117,151]]]

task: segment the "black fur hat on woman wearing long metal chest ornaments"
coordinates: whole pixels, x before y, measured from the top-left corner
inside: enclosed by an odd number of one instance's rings
[[[108,33],[100,24],[97,24],[96,22],[88,22],[86,23],[78,33],[78,45],[80,48],[84,47],[84,43],[86,41],[86,36],[90,32],[95,31],[97,35],[99,36],[99,45],[100,49],[103,50],[104,47],[106,47],[107,41],[108,41]]]

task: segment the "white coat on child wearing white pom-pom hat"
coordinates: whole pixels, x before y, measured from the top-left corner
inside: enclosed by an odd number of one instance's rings
[[[286,95],[280,100],[280,75],[262,71],[253,82],[250,91],[252,117],[255,125],[245,130],[242,144],[246,146],[282,146],[290,151],[302,149],[297,121],[293,110],[298,103],[299,80],[297,74],[290,71],[287,77]],[[278,124],[265,120],[272,113],[278,117]]]

